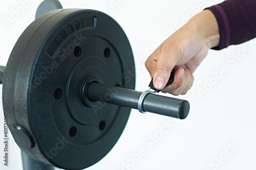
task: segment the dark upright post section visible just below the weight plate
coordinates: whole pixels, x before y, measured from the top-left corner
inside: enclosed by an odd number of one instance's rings
[[[30,170],[30,169],[54,170],[55,169],[54,166],[46,165],[42,162],[39,162],[37,160],[30,158],[23,151],[22,151],[22,164],[23,164],[24,170]]]

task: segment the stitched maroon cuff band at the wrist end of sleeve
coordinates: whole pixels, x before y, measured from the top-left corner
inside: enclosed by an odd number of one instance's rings
[[[222,50],[223,48],[228,47],[230,42],[230,28],[229,28],[227,16],[224,10],[219,5],[214,5],[209,8],[205,8],[204,10],[206,9],[214,13],[218,22],[219,32],[220,32],[220,44],[219,46],[213,47],[212,49]]]

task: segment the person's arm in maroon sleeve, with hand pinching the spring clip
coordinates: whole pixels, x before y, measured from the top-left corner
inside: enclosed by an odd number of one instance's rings
[[[256,1],[229,0],[195,15],[168,37],[145,62],[154,86],[162,89],[170,71],[174,82],[163,92],[186,94],[193,85],[193,72],[209,48],[221,50],[256,37]]]

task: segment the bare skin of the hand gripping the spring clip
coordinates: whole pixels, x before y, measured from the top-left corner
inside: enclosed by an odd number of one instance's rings
[[[220,33],[217,20],[210,10],[191,18],[182,28],[169,36],[145,62],[156,89],[163,89],[170,72],[174,82],[162,92],[186,94],[194,82],[193,72],[207,56],[210,48],[218,46]]]

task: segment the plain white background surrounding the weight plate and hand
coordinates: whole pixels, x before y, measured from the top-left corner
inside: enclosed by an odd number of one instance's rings
[[[40,2],[35,0],[31,3],[9,26],[4,18],[11,17],[12,10],[22,4],[17,0],[1,2],[0,65],[6,65],[12,47],[34,20]],[[137,65],[136,90],[144,91],[150,83],[150,76],[143,65],[145,59],[178,29],[178,23],[184,23],[185,16],[190,18],[204,8],[222,1],[114,0],[119,2],[115,7],[110,5],[113,1],[109,0],[60,2],[63,8],[105,12],[121,25],[130,40]],[[178,96],[190,102],[191,109],[185,120],[151,113],[143,115],[132,110],[129,122],[115,147],[88,169],[255,169],[255,53],[255,40],[222,51],[210,50],[194,74],[194,86],[186,95]],[[240,57],[234,59],[232,55]],[[217,79],[213,72],[220,71],[222,66],[226,66],[228,72]],[[205,82],[209,81],[214,85],[200,96],[198,89],[203,89]],[[9,145],[9,166],[3,165],[3,109],[2,105],[0,107],[0,169],[22,169],[20,151],[14,140]],[[164,123],[172,124],[172,128],[163,134],[161,128]],[[153,142],[153,147],[145,142],[149,141],[151,135],[158,138],[157,142]],[[230,148],[232,144],[239,148]],[[134,159],[131,155],[138,155],[141,148],[145,150],[144,155]],[[215,161],[218,157],[219,163]],[[122,167],[123,164],[127,166]]]

